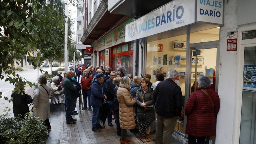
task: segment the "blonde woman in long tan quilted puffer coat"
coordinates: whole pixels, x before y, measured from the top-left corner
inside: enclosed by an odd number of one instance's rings
[[[135,99],[131,98],[130,93],[130,78],[122,77],[117,90],[117,99],[119,102],[119,122],[121,127],[121,144],[130,144],[126,139],[126,129],[135,128],[135,119],[133,105],[136,103]]]

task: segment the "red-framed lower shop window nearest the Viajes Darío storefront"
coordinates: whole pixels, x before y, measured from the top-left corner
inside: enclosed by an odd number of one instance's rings
[[[116,71],[118,67],[122,67],[125,75],[132,74],[133,55],[115,56],[113,57],[113,70]]]

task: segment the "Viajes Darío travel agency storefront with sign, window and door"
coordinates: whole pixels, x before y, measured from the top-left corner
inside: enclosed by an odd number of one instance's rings
[[[151,82],[156,81],[157,72],[163,72],[165,79],[168,70],[178,72],[183,110],[175,131],[183,142],[187,120],[184,105],[198,87],[198,77],[211,77],[212,88],[218,92],[223,6],[223,0],[175,0],[125,25],[125,42],[144,43],[139,72],[151,74]]]

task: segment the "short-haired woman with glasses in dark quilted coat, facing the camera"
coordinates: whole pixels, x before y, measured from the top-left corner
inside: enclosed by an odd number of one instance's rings
[[[141,87],[138,89],[136,93],[136,104],[138,105],[138,111],[136,117],[144,116],[144,113],[146,113],[152,120],[155,120],[155,109],[153,105],[153,94],[154,90],[149,87],[149,79],[143,78],[141,81]],[[151,126],[148,127],[145,139],[149,138]],[[141,134],[140,130],[140,138],[143,138],[143,135]]]

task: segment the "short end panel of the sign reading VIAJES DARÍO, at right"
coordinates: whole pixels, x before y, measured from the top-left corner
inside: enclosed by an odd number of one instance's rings
[[[196,21],[223,24],[223,0],[196,0]]]

